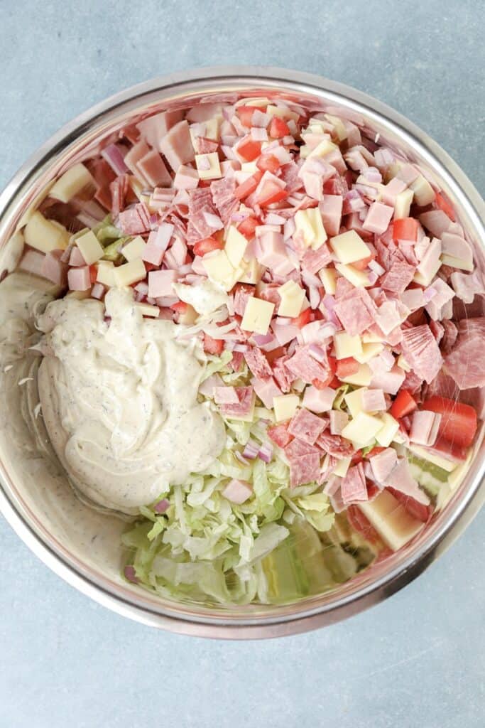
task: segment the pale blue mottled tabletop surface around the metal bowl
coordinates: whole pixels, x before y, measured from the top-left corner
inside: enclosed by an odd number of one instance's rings
[[[285,9],[278,9],[284,4]],[[329,76],[417,122],[482,192],[483,4],[0,0],[0,186],[80,111],[151,76],[257,63]],[[482,513],[370,612],[226,643],[129,622],[0,521],[0,728],[484,725]]]

